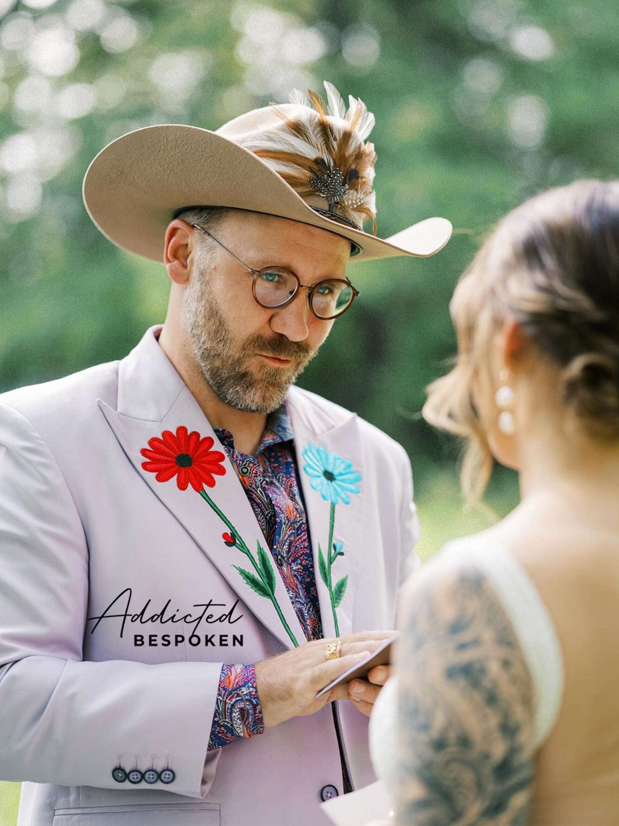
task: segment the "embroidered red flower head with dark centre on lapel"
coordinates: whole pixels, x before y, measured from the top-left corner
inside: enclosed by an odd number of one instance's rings
[[[177,477],[177,486],[186,491],[191,485],[198,493],[206,487],[215,487],[215,476],[223,476],[224,454],[211,450],[215,440],[210,436],[200,438],[197,430],[187,432],[185,425],[177,427],[176,435],[172,430],[164,430],[161,439],[154,436],[149,439],[149,448],[139,452],[148,462],[142,468],[156,474],[158,482],[168,482]]]

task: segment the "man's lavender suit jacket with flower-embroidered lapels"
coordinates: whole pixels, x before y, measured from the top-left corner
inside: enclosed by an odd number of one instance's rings
[[[19,826],[327,824],[320,790],[343,793],[330,704],[206,751],[222,663],[256,662],[305,637],[278,568],[279,613],[239,572],[251,563],[225,544],[226,525],[205,499],[142,468],[149,439],[180,425],[220,448],[156,329],[118,362],[0,396],[0,779],[22,781]],[[331,506],[301,469],[307,444],[361,474],[359,492],[334,511],[344,554],[333,577],[347,575],[339,634],[395,628],[399,584],[417,563],[409,459],[313,393],[291,387],[288,401],[324,636],[335,635],[318,573]],[[227,457],[224,468],[206,491],[256,557],[265,539]],[[196,629],[211,644],[189,643],[189,619],[204,610],[195,606],[209,600],[224,606],[215,618],[234,610]],[[167,602],[164,614],[187,622],[144,624]],[[141,620],[111,616],[127,608]],[[135,634],[158,644],[136,645]],[[365,786],[375,780],[368,719],[348,701],[336,706],[352,783]],[[168,765],[175,777],[119,783],[119,763]]]

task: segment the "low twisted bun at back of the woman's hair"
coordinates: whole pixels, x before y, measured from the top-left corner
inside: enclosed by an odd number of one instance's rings
[[[588,433],[602,438],[619,435],[619,363],[600,353],[572,358],[561,373],[564,401],[583,421]]]

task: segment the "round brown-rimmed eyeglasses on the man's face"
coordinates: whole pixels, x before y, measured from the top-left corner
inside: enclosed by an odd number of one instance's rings
[[[234,255],[232,250],[224,246],[220,240],[217,240],[215,235],[210,235],[210,232],[203,230],[197,224],[191,224],[191,226],[208,235],[216,244],[220,244],[226,252],[253,274],[252,293],[254,301],[267,310],[274,310],[290,304],[296,293],[300,289],[304,289],[308,291],[311,313],[321,321],[328,321],[338,318],[346,312],[355,297],[360,294],[351,282],[344,278],[325,278],[324,281],[319,281],[313,287],[309,287],[307,284],[302,284],[299,276],[286,267],[269,266],[262,267],[262,269],[253,269]]]

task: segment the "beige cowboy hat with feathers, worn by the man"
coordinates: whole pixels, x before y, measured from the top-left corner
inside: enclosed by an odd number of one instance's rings
[[[120,135],[84,175],[88,215],[116,246],[159,262],[168,224],[189,207],[317,226],[350,240],[356,261],[437,253],[451,235],[446,218],[377,237],[376,153],[365,141],[374,116],[352,96],[347,110],[338,90],[324,87],[328,103],[295,90],[290,103],[253,109],[216,131],[166,123]]]

